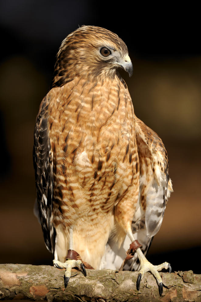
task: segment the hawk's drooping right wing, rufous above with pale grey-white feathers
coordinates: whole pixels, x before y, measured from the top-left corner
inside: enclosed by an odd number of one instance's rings
[[[139,118],[135,129],[140,162],[140,196],[145,211],[147,236],[161,227],[172,182],[168,176],[168,155],[160,137]]]

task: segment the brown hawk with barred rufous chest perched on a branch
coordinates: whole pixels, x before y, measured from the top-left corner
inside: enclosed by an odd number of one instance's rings
[[[34,131],[38,212],[65,287],[72,267],[140,266],[137,289],[151,271],[161,294],[158,271],[170,265],[145,254],[172,191],[168,156],[135,116],[119,69],[132,75],[128,49],[107,29],[81,26],[62,42]]]

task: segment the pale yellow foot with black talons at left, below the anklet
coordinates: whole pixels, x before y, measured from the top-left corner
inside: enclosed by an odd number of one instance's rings
[[[78,267],[86,277],[87,273],[84,267],[84,264],[81,262],[81,260],[74,260],[74,259],[68,259],[65,262],[61,262],[59,260],[53,260],[54,266],[56,266],[58,269],[65,268],[65,275],[64,275],[64,286],[67,287],[68,281],[71,277],[71,269],[72,267]]]

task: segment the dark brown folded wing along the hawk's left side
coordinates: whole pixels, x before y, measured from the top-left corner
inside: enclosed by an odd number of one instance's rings
[[[35,170],[38,210],[45,245],[50,252],[54,253],[55,230],[52,215],[53,152],[48,133],[47,109],[48,106],[44,98],[34,130],[33,166]]]

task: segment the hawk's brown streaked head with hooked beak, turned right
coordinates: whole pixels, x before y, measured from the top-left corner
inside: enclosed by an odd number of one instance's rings
[[[69,34],[57,53],[51,87],[75,77],[95,80],[114,78],[117,69],[133,73],[126,44],[116,34],[97,26],[81,26]]]

